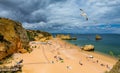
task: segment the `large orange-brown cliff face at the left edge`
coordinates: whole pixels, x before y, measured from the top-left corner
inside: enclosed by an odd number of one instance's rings
[[[28,43],[27,32],[19,22],[0,18],[0,60],[21,49],[26,49]]]

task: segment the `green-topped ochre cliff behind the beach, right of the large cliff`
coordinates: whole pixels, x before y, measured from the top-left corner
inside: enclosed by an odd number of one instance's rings
[[[53,36],[50,33],[39,30],[27,30],[27,34],[31,41],[44,42],[53,38]]]

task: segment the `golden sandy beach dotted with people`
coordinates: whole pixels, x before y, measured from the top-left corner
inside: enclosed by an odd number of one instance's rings
[[[21,54],[23,73],[104,73],[117,61],[106,55],[82,51],[56,38],[48,43],[33,41],[30,46],[31,53]]]

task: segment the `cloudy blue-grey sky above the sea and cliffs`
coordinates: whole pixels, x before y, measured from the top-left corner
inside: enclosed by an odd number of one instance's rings
[[[50,33],[120,34],[120,0],[0,0],[0,17]]]

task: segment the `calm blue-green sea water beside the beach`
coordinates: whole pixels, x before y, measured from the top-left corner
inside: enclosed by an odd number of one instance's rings
[[[95,40],[96,34],[70,34],[77,37],[77,40],[68,40],[67,42],[77,46],[93,44],[95,51],[120,57],[120,34],[99,34],[102,40]]]

